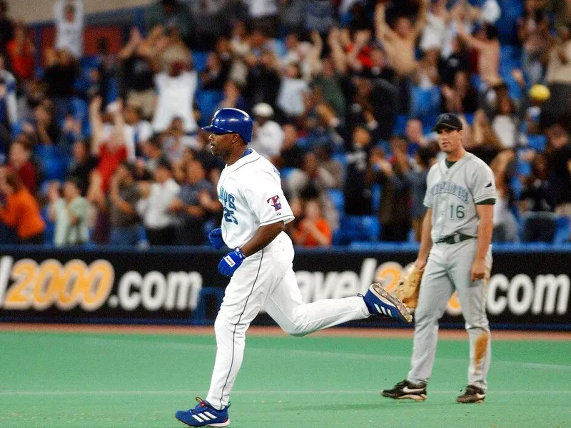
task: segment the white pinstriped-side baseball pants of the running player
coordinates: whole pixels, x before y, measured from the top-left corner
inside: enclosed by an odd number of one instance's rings
[[[293,272],[293,246],[281,233],[268,247],[246,258],[226,287],[214,323],[216,362],[206,401],[221,409],[240,370],[246,330],[263,308],[288,334],[308,335],[370,316],[362,297],[305,304]]]

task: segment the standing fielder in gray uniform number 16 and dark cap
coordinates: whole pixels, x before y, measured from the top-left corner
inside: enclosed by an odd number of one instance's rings
[[[490,328],[486,317],[487,280],[492,268],[492,217],[495,182],[492,170],[462,145],[462,121],[438,116],[434,131],[446,158],[427,177],[422,240],[415,264],[424,268],[418,307],[412,368],[408,377],[381,394],[394,399],[426,399],[433,371],[438,320],[454,290],[458,291],[470,337],[468,387],[461,403],[483,402],[490,368]]]

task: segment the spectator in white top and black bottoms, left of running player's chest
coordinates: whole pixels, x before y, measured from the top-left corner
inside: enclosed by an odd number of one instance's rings
[[[171,204],[178,196],[181,186],[172,178],[171,165],[161,161],[156,166],[154,182],[141,184],[142,199],[137,202],[137,212],[143,218],[148,243],[151,245],[174,245],[175,215]]]

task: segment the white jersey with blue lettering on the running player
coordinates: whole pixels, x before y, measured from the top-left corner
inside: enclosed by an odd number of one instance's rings
[[[294,218],[280,173],[254,150],[223,169],[218,199],[223,206],[222,238],[230,248],[244,245],[260,226],[287,224]]]

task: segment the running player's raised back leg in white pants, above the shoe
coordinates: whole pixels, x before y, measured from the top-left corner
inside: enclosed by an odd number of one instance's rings
[[[292,268],[268,295],[264,309],[286,333],[294,336],[370,316],[363,297],[359,296],[304,303]]]

